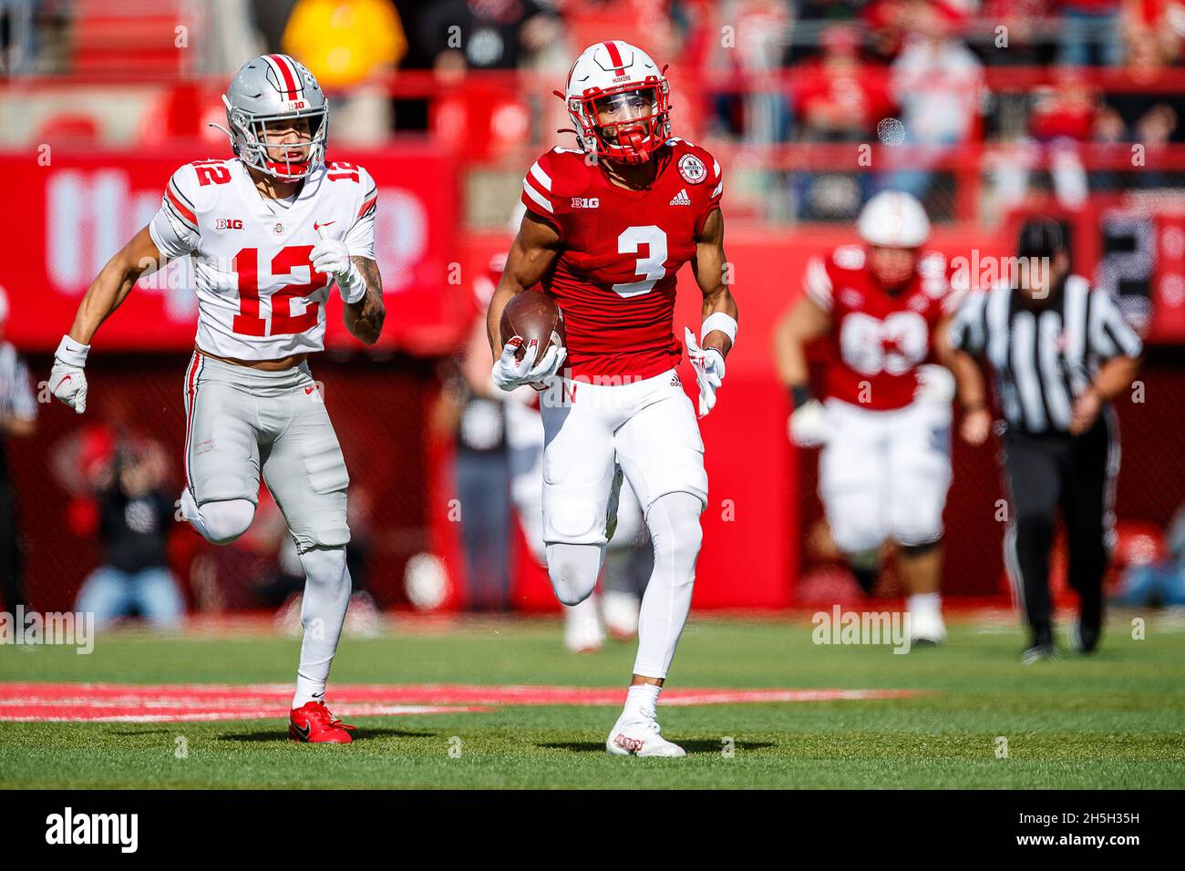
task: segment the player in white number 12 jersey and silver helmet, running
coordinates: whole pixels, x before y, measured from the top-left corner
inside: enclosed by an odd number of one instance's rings
[[[324,162],[328,103],[287,55],[249,62],[223,102],[235,158],[173,173],[152,223],[83,297],[51,385],[82,414],[83,366],[98,326],[142,274],[191,257],[198,334],[185,377],[181,512],[207,540],[233,542],[251,525],[262,472],[307,577],[288,732],[347,744],[353,726],[329,713],[324,697],[350,602],[350,478],[306,358],[324,347],[334,282],[350,332],[366,345],[378,340],[377,188],[359,166]]]

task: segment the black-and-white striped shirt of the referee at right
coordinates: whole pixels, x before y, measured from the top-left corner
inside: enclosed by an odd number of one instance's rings
[[[1068,431],[1074,401],[1102,364],[1142,351],[1108,293],[1081,275],[1045,300],[1005,284],[969,294],[950,345],[987,360],[1008,427],[1030,434]]]

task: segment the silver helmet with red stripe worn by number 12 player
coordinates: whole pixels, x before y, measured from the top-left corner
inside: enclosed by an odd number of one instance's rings
[[[260,55],[243,64],[226,94],[226,123],[235,155],[278,179],[302,179],[325,160],[329,101],[305,64],[288,55]],[[268,153],[269,122],[308,119],[310,142],[301,159],[275,160]]]

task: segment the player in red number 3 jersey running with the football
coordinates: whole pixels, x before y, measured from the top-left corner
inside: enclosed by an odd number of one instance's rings
[[[662,737],[655,705],[691,607],[707,475],[696,414],[675,374],[683,348],[672,320],[675,273],[691,261],[704,294],[699,344],[684,333],[706,415],[737,331],[723,273],[724,186],[711,154],[671,137],[667,79],[633,45],[588,47],[568,73],[566,101],[581,147],[553,148],[524,179],[527,213],[489,303],[493,379],[504,390],[547,384],[543,540],[561,602],[592,593],[622,474],[638,495],[654,571],[633,681],[606,749],[684,756]],[[499,319],[514,294],[540,282],[564,315],[568,347],[552,345],[537,360],[532,339],[517,361],[521,339],[504,347]]]

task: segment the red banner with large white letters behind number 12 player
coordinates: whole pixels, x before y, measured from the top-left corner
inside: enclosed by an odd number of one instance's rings
[[[160,207],[177,167],[210,154],[191,150],[60,154],[41,166],[36,155],[0,155],[5,199],[19,212],[5,222],[0,286],[8,292],[8,338],[26,351],[52,350],[73,319],[87,287]],[[398,328],[387,322],[382,347],[440,353],[465,329],[460,308],[469,288],[449,282],[449,250],[457,223],[456,165],[425,146],[339,154],[361,164],[379,188],[376,254],[387,307],[398,308]],[[197,297],[188,261],[139,287],[103,325],[104,350],[161,351],[192,347]],[[453,269],[451,273],[456,273]],[[341,322],[341,301],[331,294],[326,342],[353,342]]]

